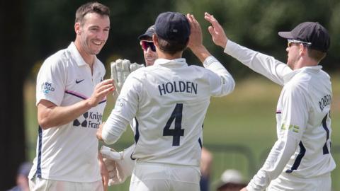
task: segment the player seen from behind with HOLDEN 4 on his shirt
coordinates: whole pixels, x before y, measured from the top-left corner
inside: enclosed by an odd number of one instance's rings
[[[113,144],[135,117],[130,190],[200,190],[205,113],[210,97],[231,93],[234,80],[203,46],[192,15],[161,13],[153,42],[159,59],[128,76],[97,137]],[[181,58],[187,46],[205,68],[188,66]]]

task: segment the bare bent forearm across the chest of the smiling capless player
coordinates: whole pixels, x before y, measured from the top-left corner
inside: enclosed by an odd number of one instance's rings
[[[57,106],[47,100],[41,100],[38,104],[38,123],[42,129],[65,125],[92,107],[89,100],[81,100],[68,106]]]

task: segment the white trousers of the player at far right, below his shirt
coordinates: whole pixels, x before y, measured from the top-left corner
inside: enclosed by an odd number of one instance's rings
[[[331,191],[331,174],[319,175],[314,178],[297,178],[288,173],[282,173],[271,181],[266,191]]]

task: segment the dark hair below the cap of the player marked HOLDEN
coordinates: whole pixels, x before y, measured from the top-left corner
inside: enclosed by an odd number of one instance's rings
[[[189,38],[185,41],[183,40],[164,40],[162,37],[157,35],[159,49],[167,54],[174,55],[177,52],[186,50]]]

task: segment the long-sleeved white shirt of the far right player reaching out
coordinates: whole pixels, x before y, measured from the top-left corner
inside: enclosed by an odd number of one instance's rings
[[[331,172],[335,168],[330,152],[331,81],[322,66],[293,71],[273,57],[230,40],[225,53],[283,86],[276,108],[278,140],[247,189],[264,190],[271,180],[284,173],[315,178]]]

